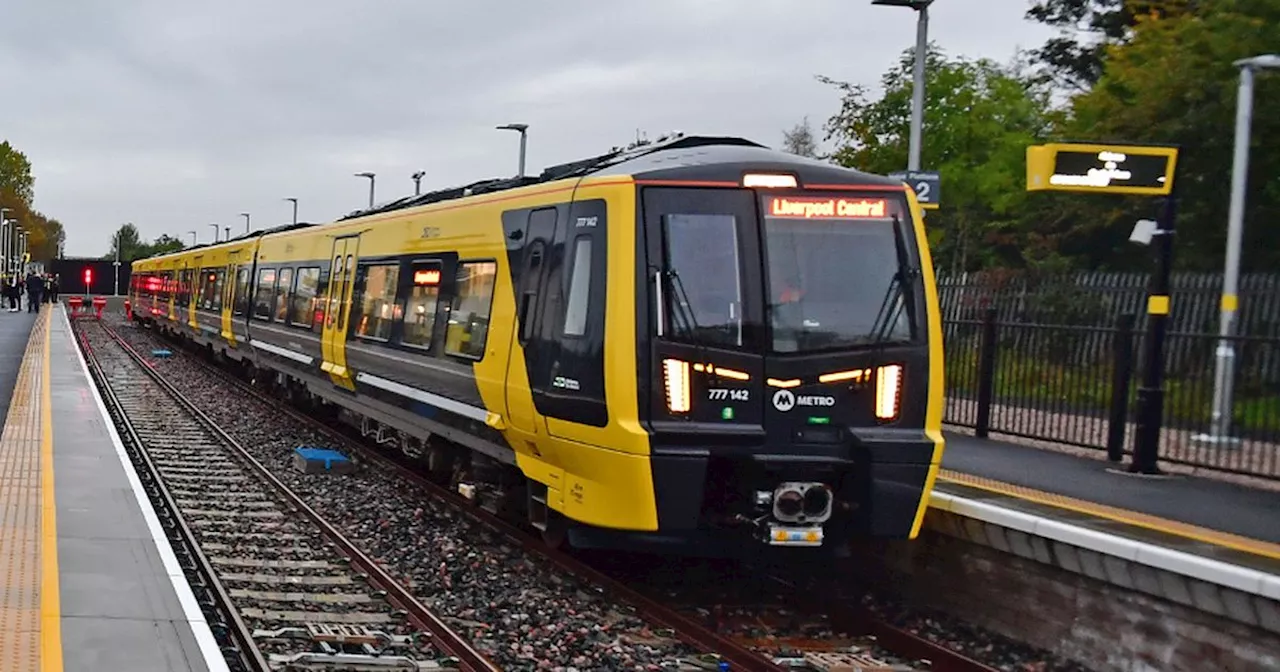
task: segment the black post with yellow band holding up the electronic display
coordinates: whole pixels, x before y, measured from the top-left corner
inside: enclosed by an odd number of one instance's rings
[[[1147,291],[1147,338],[1142,356],[1142,385],[1138,388],[1134,431],[1133,474],[1160,474],[1160,430],[1165,420],[1165,334],[1169,330],[1169,278],[1174,266],[1174,223],[1178,216],[1178,178],[1165,197],[1152,236],[1156,247],[1156,273]]]

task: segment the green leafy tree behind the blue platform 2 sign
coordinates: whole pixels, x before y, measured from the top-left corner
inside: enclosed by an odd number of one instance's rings
[[[841,165],[887,174],[906,166],[914,50],[882,78],[884,93],[826,77],[842,92],[826,124]],[[929,238],[940,268],[965,270],[1006,261],[1021,264],[1025,220],[1025,150],[1052,128],[1047,87],[1014,67],[989,60],[925,55],[922,164],[942,175],[945,202],[929,214]]]

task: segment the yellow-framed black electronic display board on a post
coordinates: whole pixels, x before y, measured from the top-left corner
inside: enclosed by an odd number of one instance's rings
[[[1167,196],[1176,147],[1050,143],[1027,147],[1027,191]]]

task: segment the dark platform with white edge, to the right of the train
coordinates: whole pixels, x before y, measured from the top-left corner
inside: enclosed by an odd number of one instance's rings
[[[934,508],[1280,599],[1280,493],[947,434]]]

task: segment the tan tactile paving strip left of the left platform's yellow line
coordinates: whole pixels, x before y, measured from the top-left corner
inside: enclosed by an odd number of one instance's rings
[[[0,669],[40,669],[41,401],[49,311],[36,320],[0,435]]]

